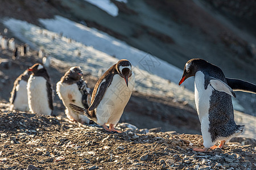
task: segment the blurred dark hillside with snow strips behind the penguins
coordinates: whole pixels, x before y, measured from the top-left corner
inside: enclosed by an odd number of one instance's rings
[[[120,122],[200,134],[193,78],[177,85],[189,59],[203,58],[227,77],[256,83],[256,1],[0,0],[0,4],[0,37],[9,44],[14,38],[17,48],[3,48],[1,40],[2,102],[9,100],[16,77],[35,62],[47,63],[53,87],[69,67],[79,65],[93,88],[99,76],[126,58],[133,65],[136,85]],[[24,46],[30,48],[22,54]],[[256,95],[236,94],[236,121],[246,125],[246,137],[255,138]],[[57,96],[55,115],[64,116]]]

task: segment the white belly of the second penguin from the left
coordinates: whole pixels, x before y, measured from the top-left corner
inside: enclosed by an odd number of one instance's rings
[[[28,106],[32,113],[51,115],[49,108],[46,79],[31,75],[28,79]]]

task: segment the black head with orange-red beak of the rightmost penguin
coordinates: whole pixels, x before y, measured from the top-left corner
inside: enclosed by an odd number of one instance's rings
[[[185,79],[195,76],[196,72],[202,67],[207,66],[209,63],[201,58],[190,59],[184,66],[184,72],[180,79],[179,85],[185,81]]]

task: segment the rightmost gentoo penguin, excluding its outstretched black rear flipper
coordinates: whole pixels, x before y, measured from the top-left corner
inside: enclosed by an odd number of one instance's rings
[[[209,148],[222,148],[225,142],[243,131],[243,125],[236,125],[231,96],[236,97],[227,84],[222,70],[204,59],[190,59],[184,67],[179,85],[185,79],[195,76],[195,101],[201,123],[204,149],[194,151],[207,152]],[[219,146],[214,144],[220,141]]]

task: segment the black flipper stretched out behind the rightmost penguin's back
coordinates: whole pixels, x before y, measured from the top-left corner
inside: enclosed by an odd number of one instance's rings
[[[253,83],[232,78],[226,78],[226,82],[228,83],[229,87],[231,87],[234,91],[243,91],[256,94],[256,85]]]

